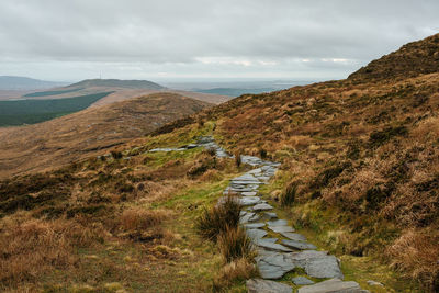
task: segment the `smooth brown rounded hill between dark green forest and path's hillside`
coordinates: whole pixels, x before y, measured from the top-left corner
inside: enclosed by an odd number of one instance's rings
[[[0,129],[0,177],[53,169],[101,154],[209,105],[173,93],[156,93]]]

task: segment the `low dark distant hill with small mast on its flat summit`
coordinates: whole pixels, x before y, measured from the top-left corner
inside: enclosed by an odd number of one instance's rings
[[[128,89],[162,90],[165,87],[148,80],[121,80],[121,79],[87,79],[68,86],[67,88],[112,87]]]

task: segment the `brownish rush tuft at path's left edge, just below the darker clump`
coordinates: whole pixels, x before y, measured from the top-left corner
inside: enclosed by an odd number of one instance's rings
[[[226,262],[235,259],[251,259],[254,248],[246,232],[240,227],[229,227],[218,235],[218,247]]]

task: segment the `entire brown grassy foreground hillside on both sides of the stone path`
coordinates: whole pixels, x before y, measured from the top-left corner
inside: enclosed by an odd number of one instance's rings
[[[211,133],[233,153],[282,162],[262,194],[339,257],[348,280],[384,283],[363,286],[372,292],[438,292],[439,72],[413,56],[405,77],[383,57],[373,78],[243,95],[111,156],[1,181],[2,289],[246,292],[248,270],[224,261],[194,223],[247,167],[200,148],[145,153]],[[282,207],[286,188],[293,204]]]

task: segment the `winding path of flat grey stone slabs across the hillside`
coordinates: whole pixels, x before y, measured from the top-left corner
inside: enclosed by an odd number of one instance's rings
[[[214,149],[219,158],[233,158],[211,136],[203,136],[198,144],[189,147],[151,149],[149,151],[184,150],[198,146]],[[318,251],[316,246],[307,243],[305,236],[295,233],[285,219],[278,218],[277,213],[272,211],[273,206],[259,194],[260,185],[268,183],[280,164],[252,156],[241,156],[241,162],[252,166],[255,169],[232,179],[218,204],[224,201],[226,195],[234,194],[239,196],[239,203],[244,206],[240,225],[246,229],[258,251],[255,260],[261,277],[261,279],[247,281],[248,292],[291,293],[293,292],[292,284],[303,285],[299,289],[299,293],[369,292],[361,290],[357,282],[342,281],[340,261],[326,251]],[[281,279],[294,269],[302,269],[300,271],[304,271],[306,274],[289,281],[272,281]],[[308,278],[318,281],[314,282]]]

